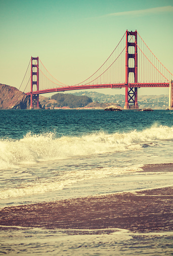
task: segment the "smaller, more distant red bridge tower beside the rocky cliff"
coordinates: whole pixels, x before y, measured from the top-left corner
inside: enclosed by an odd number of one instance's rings
[[[33,87],[36,89],[33,90]],[[31,92],[30,92],[30,109],[39,109],[39,94],[32,94],[32,91],[39,90],[39,69],[38,57],[31,56]]]

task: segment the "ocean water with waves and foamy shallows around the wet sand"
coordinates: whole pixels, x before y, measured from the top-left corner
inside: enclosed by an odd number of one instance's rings
[[[172,186],[140,172],[172,152],[173,111],[1,110],[0,207]],[[81,232],[1,231],[0,254],[173,255],[172,232]]]

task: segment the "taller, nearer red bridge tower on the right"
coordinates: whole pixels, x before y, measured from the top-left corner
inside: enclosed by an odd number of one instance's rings
[[[135,42],[129,42],[128,36],[135,36]],[[135,47],[134,53],[128,52],[128,47]],[[129,67],[129,58],[134,59],[134,67]],[[135,32],[126,30],[126,47],[125,47],[125,105],[124,109],[139,109],[138,106],[138,88],[128,87],[129,73],[134,73],[135,83],[138,83],[138,46],[137,30]]]

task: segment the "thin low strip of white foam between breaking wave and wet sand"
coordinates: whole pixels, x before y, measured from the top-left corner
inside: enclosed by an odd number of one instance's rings
[[[109,176],[115,176],[123,173],[132,173],[139,171],[140,166],[126,167],[126,168],[94,168],[90,170],[76,170],[69,171],[66,174],[54,177],[53,180],[48,179],[47,182],[34,182],[32,185],[25,184],[22,187],[10,188],[0,191],[0,199],[7,199],[11,197],[21,197],[25,195],[33,195],[39,193],[47,193],[49,191],[62,190],[74,183],[89,179],[100,179]]]

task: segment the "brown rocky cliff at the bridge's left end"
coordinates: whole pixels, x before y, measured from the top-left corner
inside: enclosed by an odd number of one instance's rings
[[[29,109],[30,99],[15,87],[0,84],[0,109]]]

